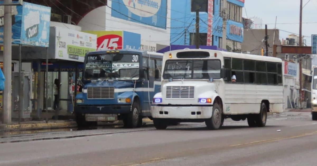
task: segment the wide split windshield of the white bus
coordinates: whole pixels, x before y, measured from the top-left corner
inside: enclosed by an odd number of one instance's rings
[[[219,59],[208,60],[167,60],[163,73],[164,79],[220,79]]]

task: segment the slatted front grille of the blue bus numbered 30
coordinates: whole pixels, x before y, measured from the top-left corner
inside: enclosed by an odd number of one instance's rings
[[[87,99],[114,99],[114,87],[88,87]]]

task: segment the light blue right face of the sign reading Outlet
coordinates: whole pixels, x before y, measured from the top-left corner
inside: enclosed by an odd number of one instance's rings
[[[23,2],[21,44],[49,46],[51,8]]]

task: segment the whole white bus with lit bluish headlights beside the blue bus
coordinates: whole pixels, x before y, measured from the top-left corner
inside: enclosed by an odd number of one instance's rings
[[[151,108],[157,129],[177,122],[205,122],[216,130],[226,118],[263,127],[267,112],[283,112],[279,58],[175,50],[164,54],[162,69],[162,90],[154,95]]]

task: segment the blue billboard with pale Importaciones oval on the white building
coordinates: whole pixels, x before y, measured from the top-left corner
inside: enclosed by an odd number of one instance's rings
[[[112,0],[111,16],[166,29],[167,0]]]

